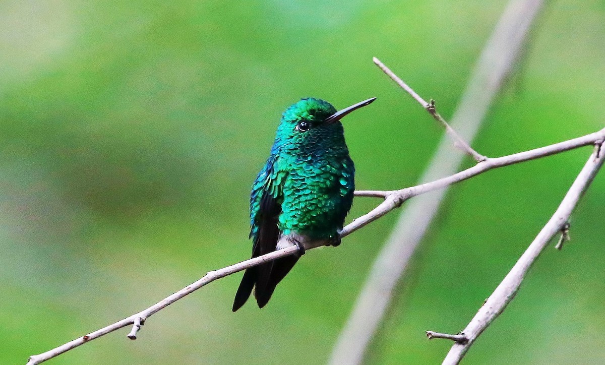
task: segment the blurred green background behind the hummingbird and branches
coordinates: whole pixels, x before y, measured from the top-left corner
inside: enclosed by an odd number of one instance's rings
[[[281,112],[342,108],[360,189],[414,185],[506,1],[0,2],[0,363],[25,363],[249,257],[248,194]],[[603,127],[605,2],[548,2],[474,142],[502,156]],[[368,363],[439,363],[589,148],[454,186]],[[470,162],[467,162],[470,165]],[[602,174],[601,174],[602,175]],[[466,364],[605,361],[605,177]],[[371,209],[356,199],[350,219]],[[54,364],[325,363],[396,214],[302,259],[263,310],[241,274]]]

